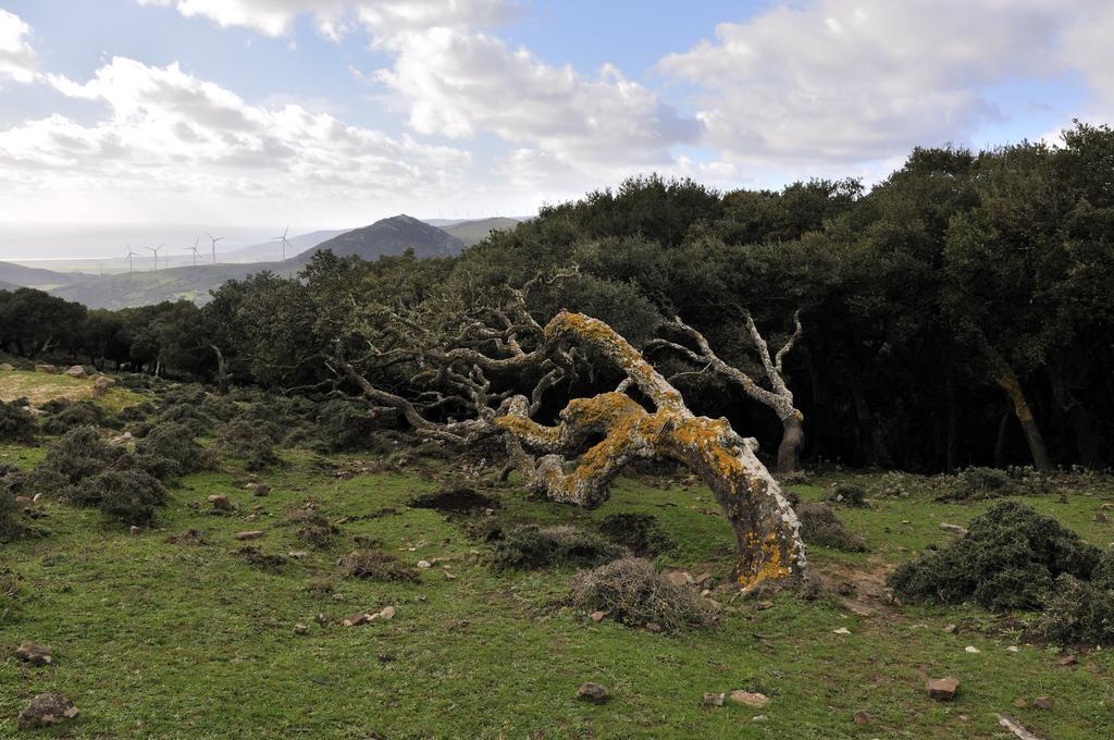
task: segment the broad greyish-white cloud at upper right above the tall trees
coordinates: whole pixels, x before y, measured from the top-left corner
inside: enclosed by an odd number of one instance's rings
[[[1003,116],[988,86],[1073,56],[1112,84],[1112,20],[1105,0],[817,0],[722,23],[659,67],[703,89],[705,143],[727,156],[858,162],[961,142]]]

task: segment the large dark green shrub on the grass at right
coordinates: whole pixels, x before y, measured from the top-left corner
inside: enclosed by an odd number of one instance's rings
[[[910,602],[1037,608],[1061,574],[1086,580],[1098,556],[1097,547],[1056,519],[1000,502],[973,519],[962,537],[899,566],[890,585]]]

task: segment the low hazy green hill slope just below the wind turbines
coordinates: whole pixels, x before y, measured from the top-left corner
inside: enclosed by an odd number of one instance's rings
[[[242,280],[263,271],[287,275],[299,270],[287,262],[252,262],[246,264],[207,264],[196,267],[172,267],[150,272],[128,272],[121,275],[88,278],[62,285],[51,294],[84,303],[90,309],[126,309],[163,301],[187,300],[207,303],[209,291],[229,280]]]

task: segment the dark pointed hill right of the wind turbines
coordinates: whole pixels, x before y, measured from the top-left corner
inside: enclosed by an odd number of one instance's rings
[[[400,214],[334,236],[289,262],[305,264],[321,250],[332,250],[339,256],[355,255],[374,261],[383,255],[402,254],[410,249],[419,257],[443,257],[460,252],[465,242],[436,226]]]

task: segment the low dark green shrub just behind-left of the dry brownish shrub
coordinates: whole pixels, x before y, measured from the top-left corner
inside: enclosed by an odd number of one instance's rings
[[[524,524],[506,532],[491,559],[499,568],[538,568],[549,565],[596,565],[622,555],[602,536],[566,525],[538,527]]]

